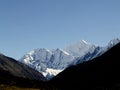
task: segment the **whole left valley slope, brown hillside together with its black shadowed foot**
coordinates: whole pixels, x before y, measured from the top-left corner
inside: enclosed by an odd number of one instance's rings
[[[45,77],[38,71],[0,54],[0,84],[18,87],[42,87]]]

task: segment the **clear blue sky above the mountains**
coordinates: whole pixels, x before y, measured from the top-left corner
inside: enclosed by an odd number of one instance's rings
[[[35,48],[120,38],[120,0],[0,0],[0,52],[19,59]]]

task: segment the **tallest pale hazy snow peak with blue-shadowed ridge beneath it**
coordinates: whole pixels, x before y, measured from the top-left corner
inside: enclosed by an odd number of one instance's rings
[[[103,47],[88,43],[85,40],[81,40],[64,48],[66,52],[75,57],[70,63],[70,66],[99,56],[102,49]]]

